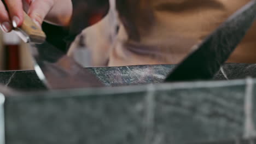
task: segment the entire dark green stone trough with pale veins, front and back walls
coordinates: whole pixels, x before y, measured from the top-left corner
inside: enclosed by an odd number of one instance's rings
[[[214,77],[223,81],[184,83],[160,83],[174,65],[91,68],[106,86],[118,87],[7,92],[0,108],[5,143],[235,144],[256,134],[256,80],[243,79],[256,76],[255,66],[226,64]],[[0,77],[16,89],[45,90],[34,71]]]

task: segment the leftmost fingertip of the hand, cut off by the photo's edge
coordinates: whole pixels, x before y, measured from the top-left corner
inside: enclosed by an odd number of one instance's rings
[[[4,32],[10,32],[12,29],[8,12],[2,1],[0,1],[0,26]]]

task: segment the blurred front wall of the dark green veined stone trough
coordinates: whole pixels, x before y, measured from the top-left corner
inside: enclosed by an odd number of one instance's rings
[[[167,144],[241,138],[246,86],[245,80],[213,81],[7,97],[6,142]]]

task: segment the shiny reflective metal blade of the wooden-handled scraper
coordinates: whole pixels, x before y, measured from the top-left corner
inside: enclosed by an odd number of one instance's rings
[[[89,70],[47,42],[31,44],[31,52],[39,79],[50,89],[104,86]]]

